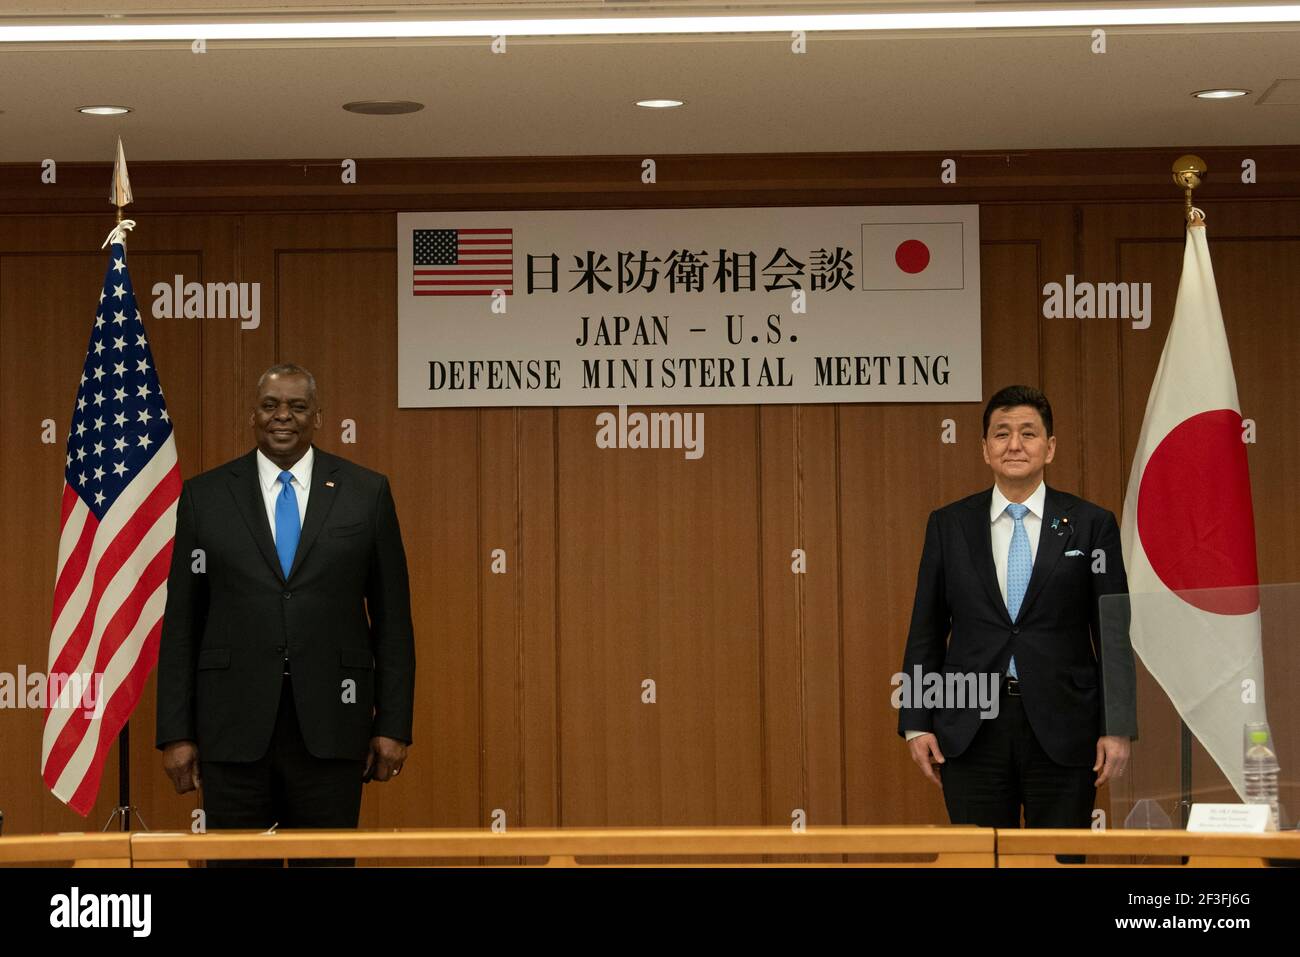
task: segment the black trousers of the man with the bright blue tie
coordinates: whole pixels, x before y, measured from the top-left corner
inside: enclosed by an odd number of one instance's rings
[[[364,761],[317,758],[303,741],[294,683],[285,676],[270,746],[257,761],[203,761],[203,811],[208,830],[355,828],[361,815]],[[351,858],[290,861],[290,866],[351,866]],[[280,861],[213,861],[209,866]]]

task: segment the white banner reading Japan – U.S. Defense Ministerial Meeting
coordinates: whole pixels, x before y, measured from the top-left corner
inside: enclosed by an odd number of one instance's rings
[[[978,402],[979,207],[398,215],[398,402]]]

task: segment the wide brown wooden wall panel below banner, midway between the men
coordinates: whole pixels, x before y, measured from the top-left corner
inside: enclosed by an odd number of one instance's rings
[[[702,411],[694,462],[559,416],[566,824],[758,818],[754,410]]]

